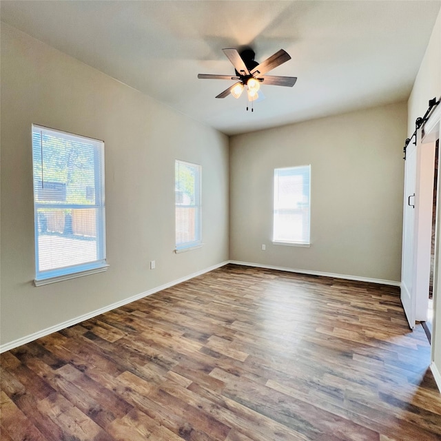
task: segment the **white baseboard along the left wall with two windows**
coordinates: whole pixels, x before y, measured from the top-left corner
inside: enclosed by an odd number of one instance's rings
[[[189,276],[178,278],[177,280],[173,280],[170,283],[165,283],[165,285],[161,285],[160,287],[152,288],[152,289],[149,289],[148,291],[141,292],[140,294],[136,294],[136,296],[125,298],[123,300],[120,300],[119,302],[112,303],[112,305],[107,305],[107,306],[102,307],[100,309],[96,309],[95,311],[88,312],[87,314],[83,314],[82,316],[72,318],[71,320],[68,320],[66,322],[59,323],[58,325],[54,325],[54,326],[42,329],[41,331],[34,332],[33,334],[30,334],[30,335],[22,337],[22,338],[17,338],[17,340],[13,340],[12,342],[5,343],[4,345],[0,345],[0,353],[9,351],[10,349],[14,349],[15,347],[19,347],[21,345],[25,345],[26,343],[37,340],[37,338],[48,336],[49,334],[52,334],[53,332],[61,331],[61,329],[65,329],[65,328],[70,327],[72,325],[76,325],[80,322],[83,322],[84,320],[88,320],[89,318],[99,316],[100,314],[104,314],[105,312],[108,312],[108,311],[112,311],[112,309],[116,309],[121,306],[127,305],[127,303],[134,302],[135,300],[139,300],[140,298],[151,296],[152,294],[155,294],[158,291],[162,291],[163,289],[167,289],[167,288],[170,288],[174,285],[178,285],[178,283],[183,283],[186,280],[189,280],[191,278],[201,276],[202,274],[205,274],[209,271],[213,271],[213,269],[223,267],[224,265],[227,265],[227,263],[229,263],[229,260],[226,260],[225,262],[213,265],[212,267],[202,269],[201,271],[197,271],[196,273],[189,274]]]

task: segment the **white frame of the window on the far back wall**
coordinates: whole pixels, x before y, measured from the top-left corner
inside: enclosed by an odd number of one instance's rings
[[[303,196],[307,197],[307,207],[291,207],[292,211],[307,209],[307,234],[304,234],[305,240],[287,240],[281,237],[280,232],[276,232],[276,212],[280,207],[278,206],[278,173],[291,172],[291,176],[305,174],[305,169],[308,170],[309,188],[307,194]],[[285,245],[289,247],[310,247],[311,246],[311,165],[298,165],[295,167],[281,167],[274,169],[274,192],[273,192],[273,238],[271,243],[273,245]]]

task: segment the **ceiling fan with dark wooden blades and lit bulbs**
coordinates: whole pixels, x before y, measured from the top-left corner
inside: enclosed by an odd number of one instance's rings
[[[238,80],[232,86],[220,92],[216,98],[225,98],[225,96],[228,96],[230,93],[234,98],[239,98],[246,86],[248,100],[254,101],[258,99],[260,83],[283,85],[291,88],[297,81],[296,76],[265,75],[266,72],[277,68],[279,65],[291,59],[289,54],[283,49],[280,49],[260,64],[254,61],[254,50],[249,48],[243,50],[240,54],[236,49],[223,49],[223,52],[229,61],[232,62],[232,65],[234,65],[236,75],[198,74],[198,78],[201,79]]]

